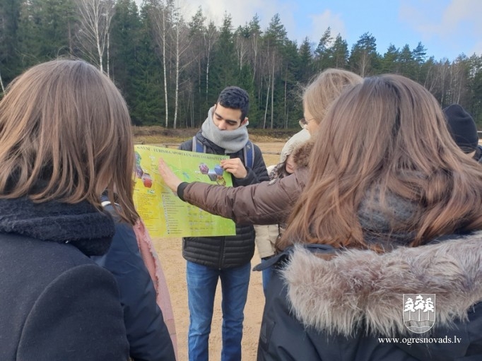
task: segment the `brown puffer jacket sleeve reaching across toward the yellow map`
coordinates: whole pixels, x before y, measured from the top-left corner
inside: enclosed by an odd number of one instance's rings
[[[202,182],[182,183],[177,195],[204,211],[231,218],[240,225],[283,223],[305,187],[308,171],[301,168],[275,182],[223,187]]]

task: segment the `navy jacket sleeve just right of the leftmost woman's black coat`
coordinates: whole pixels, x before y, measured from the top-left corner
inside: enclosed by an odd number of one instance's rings
[[[107,268],[119,285],[130,356],[136,361],[175,360],[155,288],[131,225],[116,223],[109,251],[94,261]]]

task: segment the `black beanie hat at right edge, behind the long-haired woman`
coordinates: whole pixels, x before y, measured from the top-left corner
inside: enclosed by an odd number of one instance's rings
[[[471,153],[478,145],[477,127],[471,115],[458,104],[452,104],[443,110],[448,128],[457,146],[464,153]]]

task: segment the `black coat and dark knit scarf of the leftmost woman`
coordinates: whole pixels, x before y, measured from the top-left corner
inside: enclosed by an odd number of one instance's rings
[[[0,199],[0,360],[122,361],[129,355],[107,250],[109,215],[88,204]]]

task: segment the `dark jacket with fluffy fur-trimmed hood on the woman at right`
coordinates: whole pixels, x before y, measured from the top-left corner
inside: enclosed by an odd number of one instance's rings
[[[331,260],[295,247],[269,283],[257,360],[482,360],[482,232],[445,238]],[[435,294],[432,329],[408,330],[404,294]]]

